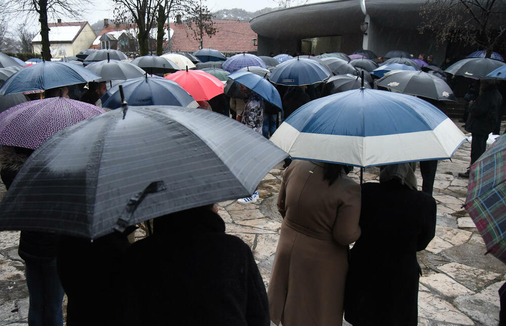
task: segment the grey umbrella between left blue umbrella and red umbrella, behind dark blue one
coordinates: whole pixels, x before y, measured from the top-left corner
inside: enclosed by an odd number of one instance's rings
[[[95,72],[104,80],[126,80],[142,77],[145,71],[128,62],[118,60],[102,60],[86,66],[86,69]]]

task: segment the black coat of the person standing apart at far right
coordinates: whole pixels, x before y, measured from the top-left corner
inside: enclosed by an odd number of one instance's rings
[[[502,106],[502,96],[495,85],[484,89],[469,108],[466,130],[472,134],[488,135],[494,130]]]

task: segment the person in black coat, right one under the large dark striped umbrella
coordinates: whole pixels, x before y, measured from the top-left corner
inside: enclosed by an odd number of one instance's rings
[[[264,282],[249,247],[225,234],[214,205],[154,220],[127,251],[125,325],[268,326]]]

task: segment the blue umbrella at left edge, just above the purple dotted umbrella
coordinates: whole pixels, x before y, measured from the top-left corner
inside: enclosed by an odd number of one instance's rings
[[[100,79],[99,75],[82,66],[61,61],[43,61],[13,74],[0,88],[0,95],[49,90],[97,79]]]

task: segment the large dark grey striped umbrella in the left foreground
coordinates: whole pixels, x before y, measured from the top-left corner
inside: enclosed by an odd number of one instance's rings
[[[0,229],[95,239],[165,214],[253,193],[286,157],[222,114],[126,107],[59,132],[26,161]]]

